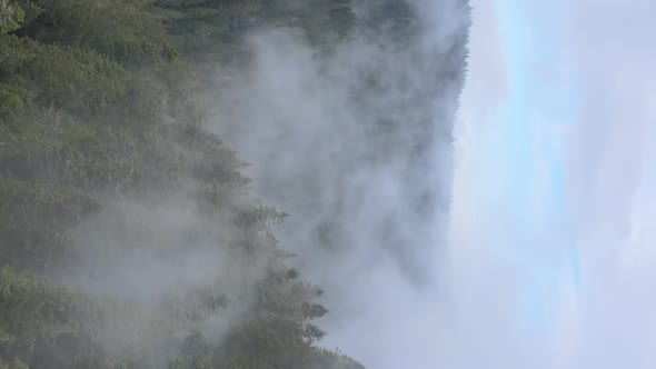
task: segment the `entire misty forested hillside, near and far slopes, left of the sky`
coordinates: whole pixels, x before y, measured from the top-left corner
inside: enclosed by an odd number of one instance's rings
[[[467,1],[1,7],[0,367],[438,363]]]

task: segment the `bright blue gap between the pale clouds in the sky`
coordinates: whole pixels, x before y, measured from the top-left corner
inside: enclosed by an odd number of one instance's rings
[[[479,196],[504,218],[488,241],[515,270],[516,316],[530,329],[554,321],[564,283],[583,288],[565,184],[563,132],[577,119],[579,92],[559,58],[564,17],[558,1],[499,2],[506,89],[477,153]]]

